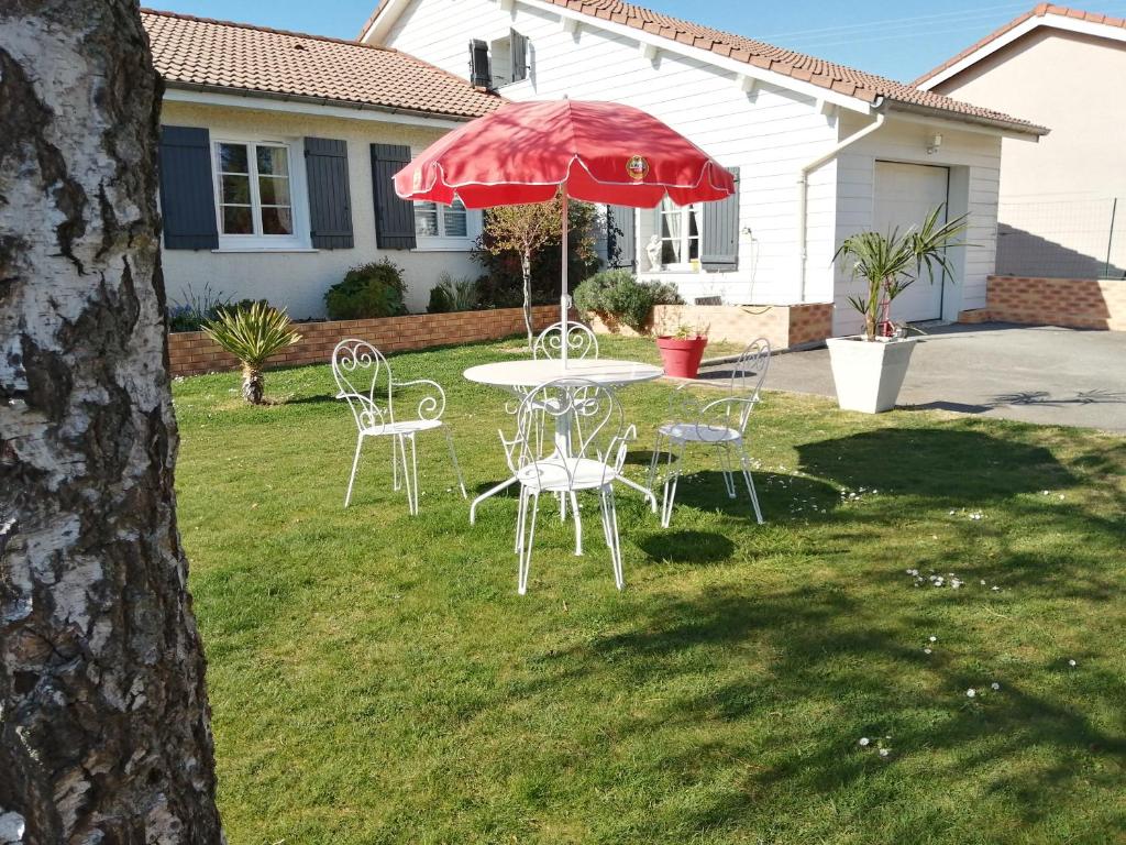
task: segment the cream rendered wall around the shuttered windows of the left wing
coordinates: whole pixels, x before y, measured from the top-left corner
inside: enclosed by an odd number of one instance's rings
[[[275,305],[287,308],[294,319],[323,317],[324,292],[329,286],[339,282],[349,267],[386,256],[403,268],[406,306],[417,312],[426,310],[430,288],[444,270],[455,277],[480,275],[480,267],[470,259],[467,249],[376,248],[369,144],[409,144],[417,152],[439,137],[444,130],[169,100],[163,104],[161,123],[205,126],[213,139],[232,133],[263,139],[300,140],[312,136],[347,141],[355,234],[352,249],[256,252],[164,249],[164,284],[172,305],[186,301],[191,293],[200,294],[206,284],[213,293],[222,293],[233,300],[267,299]],[[301,160],[293,162],[294,169],[303,164]]]

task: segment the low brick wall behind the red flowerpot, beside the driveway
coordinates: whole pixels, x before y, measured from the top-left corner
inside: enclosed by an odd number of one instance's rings
[[[824,340],[832,335],[831,302],[799,305],[658,305],[649,326],[671,331],[683,323],[706,330],[708,339],[720,343],[749,344],[765,337],[774,349],[787,349],[799,344]],[[595,331],[633,336],[628,326],[609,327],[595,318]]]

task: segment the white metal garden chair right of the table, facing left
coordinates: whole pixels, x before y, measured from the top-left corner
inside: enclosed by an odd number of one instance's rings
[[[770,343],[766,338],[752,341],[735,362],[727,395],[700,403],[681,385],[670,399],[670,421],[656,429],[656,442],[649,464],[649,487],[652,490],[662,448],[668,455],[664,490],[661,501],[661,526],[669,527],[672,506],[677,498],[677,483],[685,466],[686,447],[712,446],[720,451],[723,482],[727,496],[735,498],[734,459],[747,482],[747,492],[754,507],[754,518],[762,524],[762,510],[751,478],[751,460],[747,454],[747,422],[751,410],[761,401],[762,382],[770,365]],[[673,460],[676,465],[673,466]]]

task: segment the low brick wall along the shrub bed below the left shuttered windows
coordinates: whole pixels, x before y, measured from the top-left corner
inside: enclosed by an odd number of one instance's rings
[[[533,309],[536,329],[557,322],[558,315],[558,305],[537,305]],[[327,363],[332,357],[333,347],[346,337],[367,340],[385,354],[495,340],[524,332],[524,311],[506,308],[452,314],[301,322],[295,328],[302,336],[301,341],[270,358],[271,366]],[[239,366],[202,331],[169,335],[168,355],[172,375],[198,375]]]

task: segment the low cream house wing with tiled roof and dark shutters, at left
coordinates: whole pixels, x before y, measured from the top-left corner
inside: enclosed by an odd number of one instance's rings
[[[171,304],[203,293],[324,313],[351,266],[390,258],[408,306],[476,276],[480,213],[399,199],[391,179],[501,100],[404,53],[143,11],[164,79],[160,203]]]

